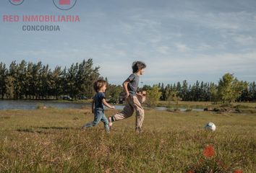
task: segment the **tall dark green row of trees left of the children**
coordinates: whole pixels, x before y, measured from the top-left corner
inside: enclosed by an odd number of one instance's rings
[[[93,59],[72,63],[63,69],[54,70],[48,64],[12,61],[7,68],[0,63],[1,99],[58,99],[68,95],[72,99],[93,97],[93,81],[101,78],[98,69],[93,66]]]

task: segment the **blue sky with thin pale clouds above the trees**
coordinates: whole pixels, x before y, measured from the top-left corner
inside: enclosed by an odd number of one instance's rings
[[[0,1],[0,61],[42,61],[52,69],[93,58],[101,76],[121,84],[133,61],[147,64],[142,84],[218,82],[231,73],[256,81],[255,0],[77,0],[60,10],[53,0]],[[80,22],[46,22],[61,31],[23,31],[3,15],[79,15]]]

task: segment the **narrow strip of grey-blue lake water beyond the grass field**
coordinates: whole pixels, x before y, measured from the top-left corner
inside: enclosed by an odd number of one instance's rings
[[[77,102],[54,102],[54,101],[41,101],[41,100],[1,100],[0,110],[35,110],[38,105],[46,107],[56,107],[59,109],[82,109],[83,107],[91,107],[88,103]],[[123,105],[114,105],[116,110],[122,110]],[[106,109],[108,109],[106,107]],[[167,110],[166,107],[155,107],[155,110]],[[185,111],[186,107],[179,107],[179,110]],[[202,109],[192,109],[193,111],[203,111]]]

